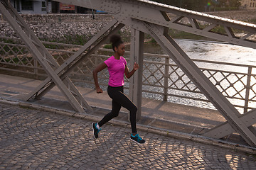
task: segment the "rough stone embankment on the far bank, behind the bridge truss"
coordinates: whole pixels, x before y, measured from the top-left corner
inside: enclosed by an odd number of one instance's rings
[[[255,21],[256,11],[221,11],[209,14],[231,18],[238,21]],[[110,14],[22,14],[24,20],[42,40],[60,40],[65,35],[85,35],[87,38],[95,35],[112,20]],[[0,36],[17,37],[14,30],[0,17]],[[128,27],[121,31],[129,31]]]

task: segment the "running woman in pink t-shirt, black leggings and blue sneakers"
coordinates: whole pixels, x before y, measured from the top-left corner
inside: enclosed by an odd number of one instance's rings
[[[137,106],[129,100],[129,98],[124,94],[124,74],[129,79],[132,77],[134,72],[139,69],[139,65],[134,63],[134,68],[131,72],[127,67],[127,61],[122,57],[124,55],[124,42],[122,41],[119,35],[112,35],[110,37],[110,42],[112,42],[112,49],[114,55],[99,64],[92,72],[93,79],[95,81],[95,89],[97,94],[103,93],[102,89],[98,84],[97,73],[101,72],[103,69],[107,68],[110,74],[109,86],[107,87],[107,94],[112,98],[112,111],[107,113],[102,120],[98,123],[92,123],[93,135],[95,139],[98,138],[100,130],[102,130],[102,125],[107,123],[119,115],[121,106],[127,108],[130,113],[130,123],[132,126],[131,140],[143,144],[145,140],[142,137],[139,137],[136,128],[136,113]]]

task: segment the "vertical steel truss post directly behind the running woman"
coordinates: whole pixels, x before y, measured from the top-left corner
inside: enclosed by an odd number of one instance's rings
[[[131,30],[131,54],[130,67],[134,66],[134,62],[139,64],[139,69],[129,80],[129,98],[137,106],[137,120],[142,117],[142,72],[143,72],[143,44],[144,33],[139,30]]]

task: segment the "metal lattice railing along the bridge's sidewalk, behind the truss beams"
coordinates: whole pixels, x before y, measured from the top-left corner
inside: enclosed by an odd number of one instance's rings
[[[1,73],[14,72],[18,76],[33,79],[45,79],[46,72],[21,40],[18,38],[0,37],[0,71]],[[58,64],[62,64],[79,49],[79,45],[43,42]],[[112,50],[98,49],[95,54],[87,57],[80,66],[69,75],[77,86],[94,88],[92,69],[97,64],[112,55]],[[129,63],[129,52],[124,57]],[[227,62],[213,62],[208,60],[193,60],[203,73],[213,82],[220,92],[228,98],[240,113],[246,113],[256,106],[256,67],[245,64]],[[142,67],[142,66],[141,66]],[[221,68],[221,69],[217,69]],[[107,87],[107,69],[99,74],[103,89]],[[125,79],[125,81],[129,81]],[[168,55],[144,53],[143,64],[143,96],[163,101],[181,103],[192,106],[213,108],[208,99],[186,77],[181,69]],[[126,83],[125,89],[129,89]]]

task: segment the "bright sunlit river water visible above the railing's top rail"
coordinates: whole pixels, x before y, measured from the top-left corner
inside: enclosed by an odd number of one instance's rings
[[[256,65],[256,49],[203,40],[175,40],[191,59]],[[144,52],[166,54],[159,46],[144,45]]]

